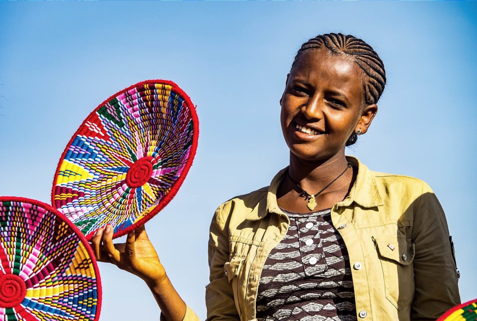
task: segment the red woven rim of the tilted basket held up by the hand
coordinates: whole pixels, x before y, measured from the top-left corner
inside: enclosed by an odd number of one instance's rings
[[[184,182],[184,179],[187,176],[187,173],[189,172],[190,167],[192,166],[192,162],[194,161],[194,157],[196,155],[197,151],[197,143],[198,143],[198,137],[199,137],[199,119],[197,117],[197,112],[195,106],[192,104],[192,101],[190,100],[190,97],[187,96],[187,94],[179,88],[179,86],[176,85],[176,83],[170,81],[170,80],[163,80],[163,79],[151,79],[151,80],[145,80],[140,83],[134,84],[132,86],[129,86],[127,88],[124,88],[121,91],[118,91],[114,95],[111,95],[109,98],[105,99],[101,104],[98,105],[98,107],[94,108],[94,110],[88,114],[88,116],[83,120],[81,124],[83,124],[89,117],[89,115],[95,113],[101,106],[106,104],[108,101],[113,99],[116,96],[119,96],[123,94],[124,92],[133,89],[137,86],[141,85],[146,85],[146,84],[151,84],[151,83],[158,83],[158,84],[165,84],[172,86],[172,91],[174,91],[176,94],[180,95],[185,103],[187,104],[187,109],[189,111],[189,115],[192,118],[192,126],[194,128],[194,137],[192,138],[192,146],[189,154],[189,158],[187,159],[186,165],[184,166],[184,169],[182,171],[182,174],[179,176],[176,182],[174,182],[171,185],[169,193],[164,196],[164,198],[156,205],[156,207],[148,214],[146,214],[142,219],[137,221],[135,224],[130,225],[126,227],[124,230],[121,230],[117,233],[114,233],[113,238],[120,237],[123,235],[128,234],[131,231],[134,231],[137,227],[144,225],[147,221],[149,221],[152,217],[154,217],[157,213],[159,213],[173,198],[176,196],[177,191],[179,190],[180,186],[182,185],[182,182]],[[62,152],[60,161],[58,161],[58,165],[56,166],[56,171],[55,171],[55,176],[53,177],[53,187],[52,187],[52,204],[55,203],[55,185],[56,181],[58,179],[58,174],[60,172],[60,167],[62,164],[62,161],[64,159],[64,156],[66,155],[66,152],[68,151],[68,147],[73,143],[74,138],[80,131],[81,126],[76,130],[76,132],[73,134],[72,138],[69,140],[68,144],[66,144],[65,149]],[[81,233],[81,232],[80,232]],[[85,235],[86,239],[88,241],[91,241],[91,239],[94,236],[95,231],[92,231],[88,235]],[[83,233],[82,233],[83,234]]]

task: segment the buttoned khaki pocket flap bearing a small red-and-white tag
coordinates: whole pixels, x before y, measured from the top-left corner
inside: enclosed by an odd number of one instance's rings
[[[373,240],[381,257],[402,265],[408,265],[414,259],[415,245],[407,243],[404,237],[373,236]]]

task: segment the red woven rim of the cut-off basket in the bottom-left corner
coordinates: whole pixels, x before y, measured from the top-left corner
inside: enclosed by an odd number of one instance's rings
[[[0,196],[0,202],[22,202],[22,203],[30,203],[39,207],[43,207],[44,209],[52,212],[56,216],[58,216],[63,222],[65,222],[68,226],[70,226],[73,231],[78,235],[80,238],[80,241],[84,244],[84,247],[86,247],[86,251],[88,251],[89,256],[91,257],[91,262],[93,263],[93,268],[94,268],[94,274],[96,278],[96,291],[97,291],[97,301],[96,301],[96,314],[94,316],[94,321],[99,320],[99,315],[101,313],[101,303],[102,303],[102,291],[103,288],[101,287],[101,277],[99,275],[99,268],[98,264],[96,262],[96,257],[94,256],[93,249],[91,248],[90,244],[86,240],[86,237],[84,237],[83,233],[78,229],[76,225],[71,222],[66,215],[62,214],[60,211],[55,210],[51,205],[47,203],[43,203],[37,200],[32,200],[30,198],[26,197],[16,197],[16,196]]]

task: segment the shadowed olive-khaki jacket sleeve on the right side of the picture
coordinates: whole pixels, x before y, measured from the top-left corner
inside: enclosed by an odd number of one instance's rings
[[[417,202],[412,232],[415,294],[411,320],[436,320],[460,304],[456,264],[446,215],[425,182]]]

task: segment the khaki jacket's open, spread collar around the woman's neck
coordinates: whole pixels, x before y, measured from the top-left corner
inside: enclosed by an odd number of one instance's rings
[[[346,207],[353,202],[363,207],[382,206],[383,199],[378,192],[376,182],[373,173],[368,169],[366,165],[358,160],[354,156],[346,155],[346,160],[351,161],[354,166],[358,167],[358,176],[356,182],[354,182],[350,193],[342,202],[337,203],[336,207]],[[285,177],[284,174],[287,171],[288,166],[280,170],[270,182],[270,186],[266,197],[262,198],[257,206],[247,215],[248,220],[258,220],[264,217],[267,212],[284,214],[277,204],[277,190],[281,181]]]

